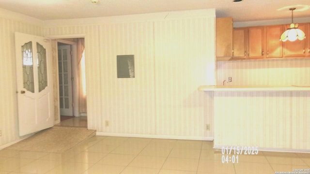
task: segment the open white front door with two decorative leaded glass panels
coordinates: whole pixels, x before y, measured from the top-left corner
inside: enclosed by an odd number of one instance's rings
[[[15,33],[19,135],[54,125],[51,45],[43,37]]]

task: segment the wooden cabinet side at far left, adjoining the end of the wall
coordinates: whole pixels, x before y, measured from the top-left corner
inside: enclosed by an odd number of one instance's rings
[[[228,60],[233,57],[233,18],[216,18],[216,52],[218,60]]]

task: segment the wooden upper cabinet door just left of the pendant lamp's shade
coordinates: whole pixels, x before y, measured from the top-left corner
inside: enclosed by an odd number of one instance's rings
[[[280,35],[283,32],[283,25],[266,26],[266,58],[282,58],[283,42]]]

